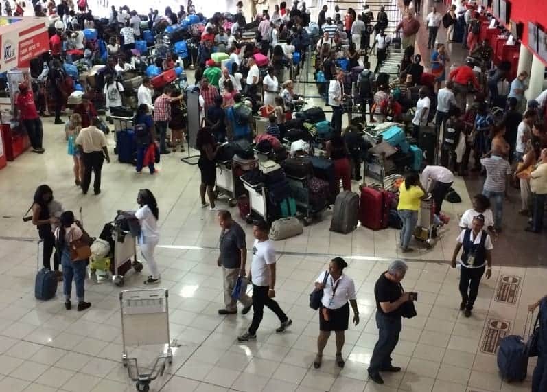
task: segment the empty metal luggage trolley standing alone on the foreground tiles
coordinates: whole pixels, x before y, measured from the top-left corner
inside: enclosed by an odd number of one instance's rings
[[[139,392],[150,389],[150,382],[163,376],[165,365],[173,362],[169,338],[169,293],[165,289],[124,290],[119,293],[121,310],[121,362]],[[128,358],[127,346],[163,345],[149,373],[139,372],[137,358]],[[165,352],[167,345],[167,352]]]

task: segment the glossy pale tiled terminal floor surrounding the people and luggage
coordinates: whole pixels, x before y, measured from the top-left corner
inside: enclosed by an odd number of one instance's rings
[[[196,8],[201,6],[196,2]],[[218,2],[217,2],[218,3]],[[272,3],[272,2],[269,2]],[[430,5],[423,2],[423,7]],[[273,4],[273,3],[272,3]],[[330,8],[335,2],[325,3]],[[441,3],[438,3],[441,4]],[[321,5],[321,4],[320,4]],[[346,8],[347,3],[340,5]],[[361,3],[352,4],[357,10]],[[91,4],[93,7],[93,4]],[[224,5],[221,5],[224,6]],[[310,6],[310,4],[308,5]],[[212,8],[205,8],[205,14]],[[233,5],[231,5],[234,8]],[[176,7],[178,8],[178,7]],[[317,9],[312,11],[316,19]],[[423,21],[423,10],[419,18]],[[443,29],[439,36],[444,36]],[[419,34],[418,50],[426,50],[425,32]],[[454,45],[455,46],[455,45]],[[449,53],[453,62],[463,61],[463,51]],[[428,56],[423,56],[426,58]],[[427,62],[426,62],[427,64]],[[189,80],[193,80],[191,71]],[[65,118],[66,116],[63,116]],[[156,248],[161,284],[169,290],[168,312],[173,361],[165,373],[150,384],[151,391],[296,391],[296,392],[524,392],[531,390],[535,358],[528,363],[524,382],[501,380],[496,350],[501,338],[524,332],[528,304],[547,294],[547,269],[542,255],[547,249],[544,235],[524,234],[526,219],[518,216],[517,194],[506,205],[504,230],[493,242],[490,279],[480,283],[473,314],[459,310],[459,269],[450,267],[458,220],[471,208],[471,197],[480,189],[482,178],[456,176],[454,189],[461,203],[444,203],[450,223],[440,239],[426,249],[401,253],[395,229],[372,231],[358,227],[347,235],[329,231],[331,210],[304,228],[302,235],[274,242],[277,254],[275,299],[292,319],[292,325],[277,333],[279,321],[266,310],[257,338],[241,343],[237,336],[246,331],[253,312],[221,316],[224,291],[222,271],[217,266],[220,227],[217,213],[202,208],[199,198],[200,172],[196,165],[181,162],[186,152],[162,155],[159,173],[137,174],[131,165],[117,163],[113,135],[108,148],[113,160],[104,165],[102,192],[83,195],[74,185],[72,159],[67,154],[64,127],[43,119],[44,154],[26,152],[0,171],[0,391],[10,392],[126,392],[135,390],[121,364],[121,290],[147,288],[148,275],[130,272],[124,287],[110,281],[86,279],[84,312],[65,310],[61,287],[54,299],[37,301],[34,278],[38,254],[38,233],[21,216],[32,203],[36,187],[48,184],[54,198],[75,213],[82,207],[84,227],[99,235],[118,210],[137,208],[139,189],[148,188],[159,206],[160,241]],[[353,182],[353,190],[359,183]],[[515,191],[516,192],[516,191]],[[253,244],[250,224],[240,219],[237,207],[226,200],[217,203],[229,209],[242,225],[248,248]],[[77,215],[77,214],[76,214]],[[78,216],[77,216],[78,218]],[[345,273],[356,286],[360,323],[350,323],[342,357],[335,360],[335,339],[331,336],[323,364],[314,369],[318,314],[310,309],[313,282],[333,257],[349,264]],[[250,264],[251,253],[249,253]],[[374,285],[391,261],[406,260],[408,272],[401,284],[419,293],[417,316],[404,319],[393,365],[398,373],[382,373],[384,385],[369,380],[367,367],[378,338],[375,321]],[[62,284],[60,284],[62,285]],[[529,319],[528,319],[529,320]],[[161,330],[161,325],[148,325]],[[160,332],[158,332],[159,334]],[[166,342],[167,343],[167,342]],[[130,347],[129,357],[150,367],[167,345]]]

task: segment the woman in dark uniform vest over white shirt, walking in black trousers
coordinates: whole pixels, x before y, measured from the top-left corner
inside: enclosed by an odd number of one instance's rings
[[[456,257],[463,247],[460,268],[460,310],[466,317],[471,316],[471,310],[477,298],[480,278],[485,273],[486,278],[492,275],[492,240],[490,235],[482,230],[485,226],[485,216],[478,214],[473,218],[472,228],[461,231],[456,248],[452,254],[452,268],[456,268]]]

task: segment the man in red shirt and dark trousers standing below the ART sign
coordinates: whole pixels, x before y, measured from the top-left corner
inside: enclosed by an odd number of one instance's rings
[[[32,152],[42,154],[45,151],[42,148],[42,139],[44,136],[42,120],[38,115],[38,111],[36,111],[32,91],[24,82],[19,84],[19,94],[15,99],[15,117],[17,117],[18,113],[29,135]]]

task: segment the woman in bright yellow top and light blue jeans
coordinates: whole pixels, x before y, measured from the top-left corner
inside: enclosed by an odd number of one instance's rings
[[[420,183],[420,177],[417,173],[407,174],[401,187],[399,187],[399,205],[397,212],[403,221],[401,229],[401,249],[403,252],[412,252],[414,249],[409,248],[412,231],[418,222],[418,210],[420,202],[428,198],[428,192],[423,189]]]

